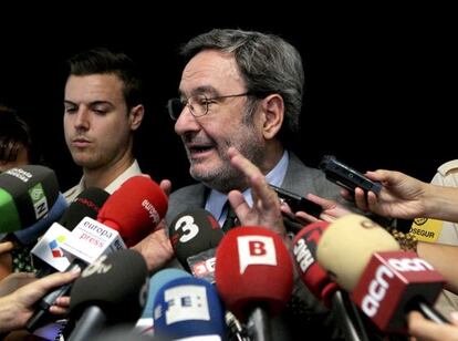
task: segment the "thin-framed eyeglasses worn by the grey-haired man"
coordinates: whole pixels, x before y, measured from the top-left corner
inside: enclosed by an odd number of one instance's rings
[[[174,121],[178,120],[185,106],[188,106],[192,116],[200,117],[208,113],[208,106],[211,103],[214,103],[214,101],[221,100],[221,99],[229,99],[229,97],[249,96],[249,95],[250,93],[246,92],[246,93],[240,93],[236,95],[225,95],[225,96],[216,96],[216,97],[206,97],[204,95],[195,95],[189,99],[170,99],[167,102],[167,110],[168,110],[168,114]]]

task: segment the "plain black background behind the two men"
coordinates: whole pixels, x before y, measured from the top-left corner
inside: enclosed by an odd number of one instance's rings
[[[157,180],[170,178],[177,188],[191,182],[165,110],[180,79],[178,46],[211,28],[253,29],[283,37],[302,54],[306,91],[296,149],[309,165],[334,154],[360,170],[391,168],[429,180],[437,166],[458,158],[458,30],[451,9],[329,4],[304,10],[298,1],[248,11],[246,6],[2,11],[14,20],[0,23],[0,94],[30,122],[65,190],[81,170],[63,137],[64,61],[93,46],[124,50],[139,63],[146,82],[147,115],[136,137],[137,158],[145,173]],[[46,11],[53,14],[33,16]]]

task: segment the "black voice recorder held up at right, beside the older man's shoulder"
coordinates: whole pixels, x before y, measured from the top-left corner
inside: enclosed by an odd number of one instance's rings
[[[333,155],[324,155],[319,167],[324,172],[329,180],[348,189],[351,193],[356,187],[363,188],[366,193],[372,190],[375,194],[379,194],[382,190],[382,184],[379,182],[371,180],[362,173],[337,161]]]

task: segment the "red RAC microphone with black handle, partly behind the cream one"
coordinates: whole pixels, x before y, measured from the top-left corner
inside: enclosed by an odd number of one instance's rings
[[[346,339],[368,340],[356,307],[316,261],[316,248],[329,225],[326,221],[315,221],[302,228],[295,236],[293,256],[299,276],[316,298],[339,313]]]

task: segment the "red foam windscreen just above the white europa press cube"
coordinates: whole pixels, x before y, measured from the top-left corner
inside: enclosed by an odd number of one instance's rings
[[[164,190],[147,176],[133,176],[102,206],[97,220],[116,229],[127,247],[153,231],[167,213]]]

